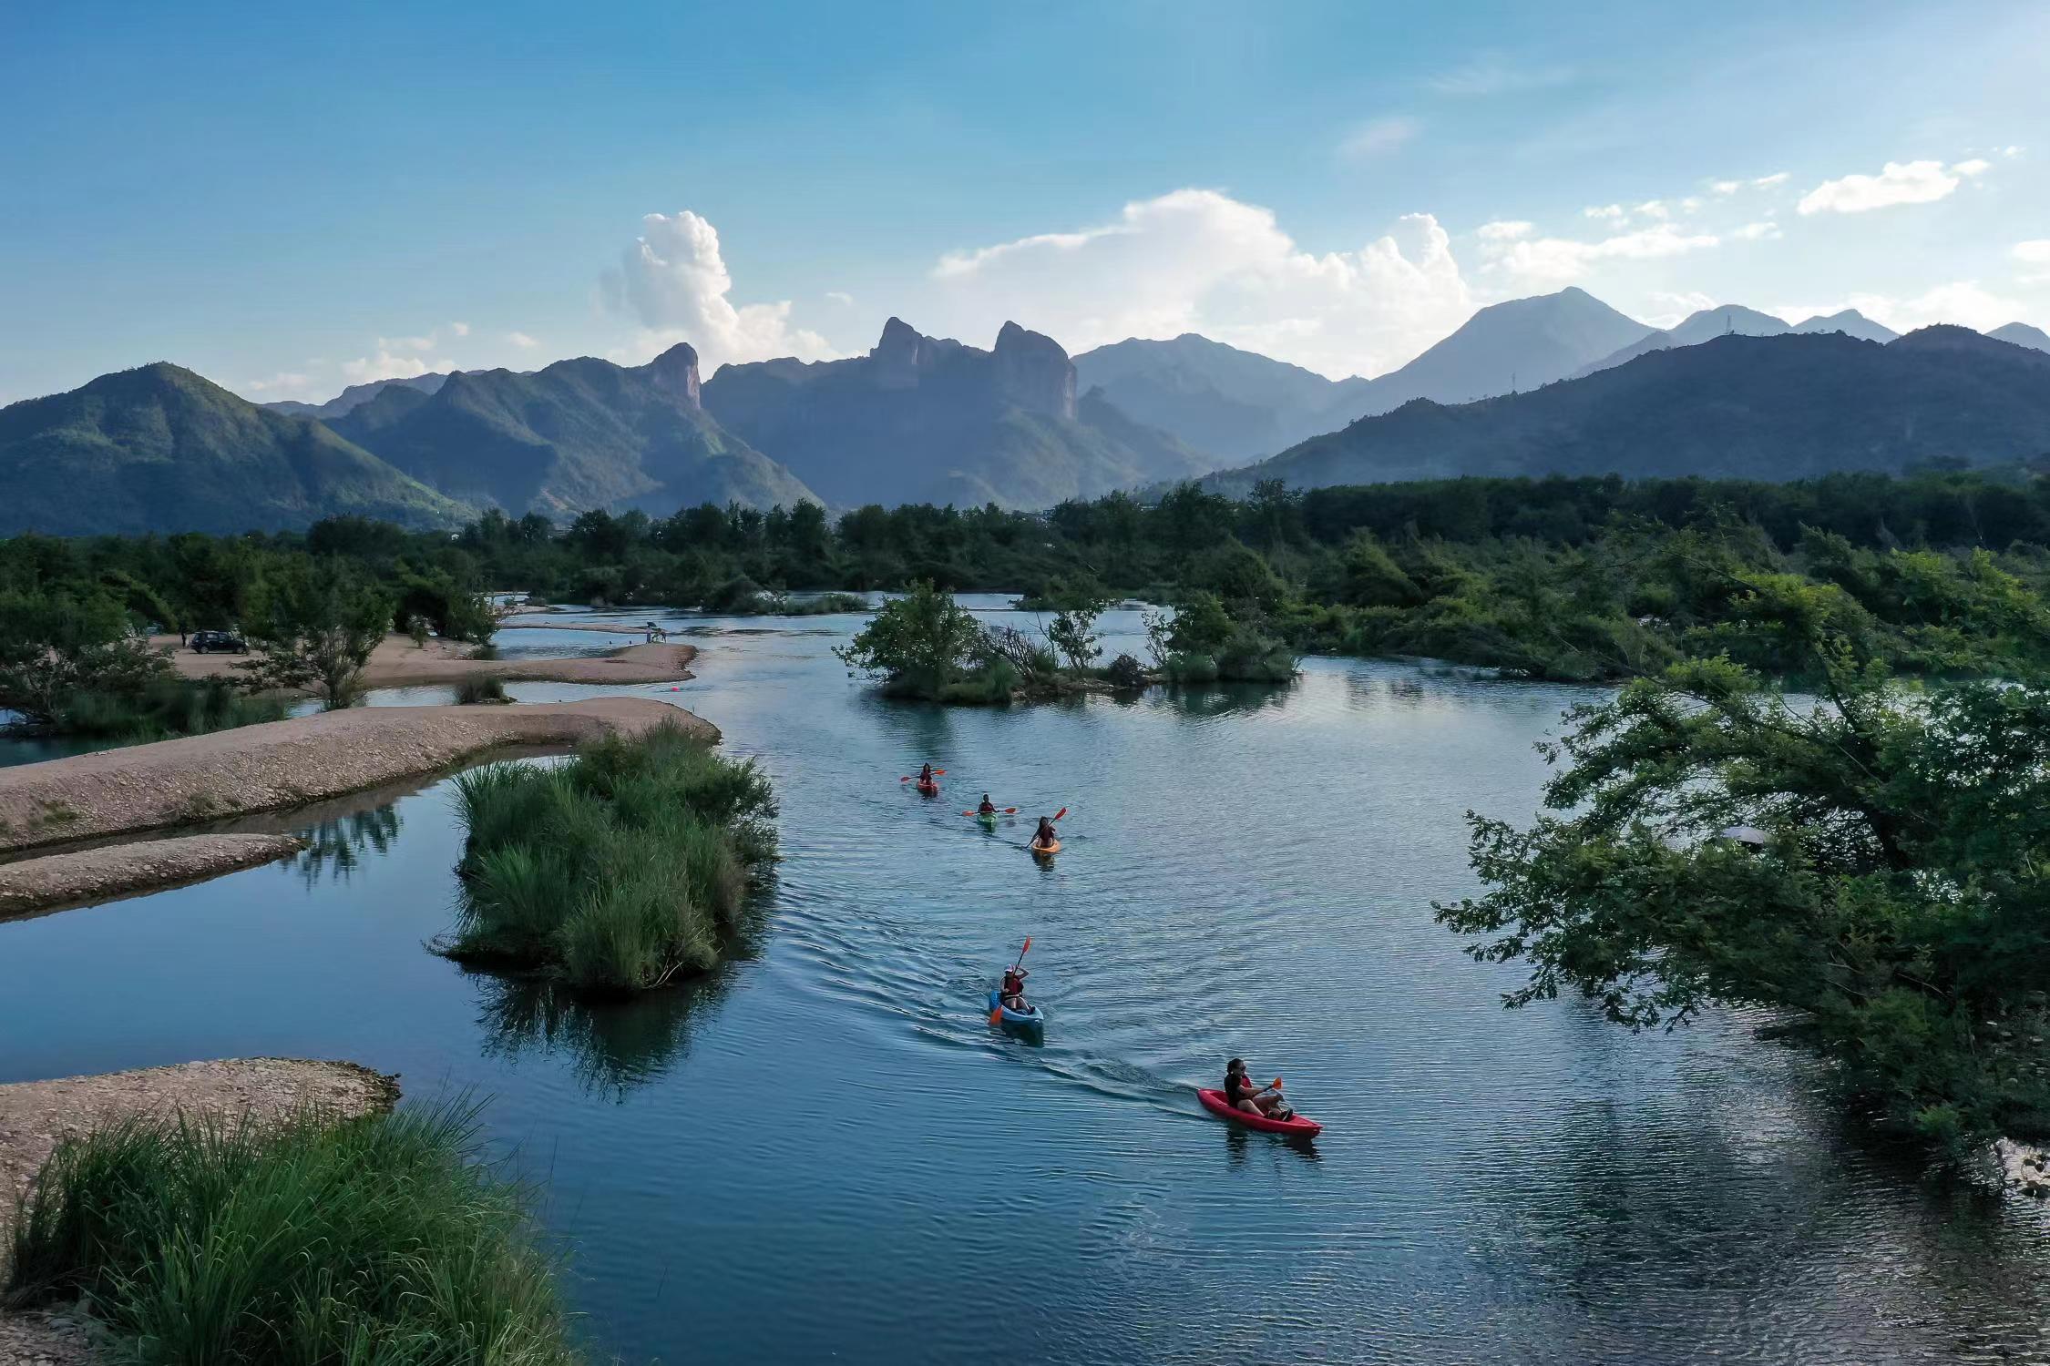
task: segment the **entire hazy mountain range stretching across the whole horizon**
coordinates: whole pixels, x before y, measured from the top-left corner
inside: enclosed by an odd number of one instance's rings
[[[1408,365],[1341,381],[1195,334],[1070,360],[1019,324],[982,350],[896,317],[865,356],[707,381],[674,346],[642,367],[558,360],[256,405],[150,365],[0,410],[0,535],[806,498],[1031,510],[1201,475],[1788,479],[2044,457],[2046,389],[2050,336],[2025,324],[1894,338],[1855,309],[1788,326],[1724,305],[1652,330],[1581,289],[1484,307]]]

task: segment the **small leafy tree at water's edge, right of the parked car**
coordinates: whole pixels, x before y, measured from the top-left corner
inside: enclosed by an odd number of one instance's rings
[[[363,696],[363,666],[392,629],[392,598],[340,563],[299,561],[260,600],[252,688],[308,688],[324,709]]]

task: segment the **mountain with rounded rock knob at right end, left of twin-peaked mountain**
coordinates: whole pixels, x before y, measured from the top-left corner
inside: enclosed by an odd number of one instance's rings
[[[703,410],[687,344],[642,367],[584,356],[527,375],[457,373],[435,393],[387,387],[330,426],[424,483],[512,514],[818,502]]]

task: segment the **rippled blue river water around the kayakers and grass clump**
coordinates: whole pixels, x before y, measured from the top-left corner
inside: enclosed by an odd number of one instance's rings
[[[699,678],[636,692],[715,721],[783,801],[746,961],[592,1014],[435,958],[437,782],[293,864],[0,924],[0,1079],[281,1053],[488,1098],[629,1362],[2050,1352],[2040,1206],[1845,1137],[1740,1020],[1503,1012],[1517,973],[1431,922],[1474,889],[1462,813],[1527,815],[1531,741],[1583,694],[1310,661],[1292,688],[937,711],[847,680],[855,618],[664,621]],[[898,782],[920,760],[937,801]],[[1064,852],[957,815],[984,788],[1070,807]],[[982,1014],[1025,934],[1043,1044]],[[1324,1135],[1205,1116],[1191,1090],[1234,1053]]]

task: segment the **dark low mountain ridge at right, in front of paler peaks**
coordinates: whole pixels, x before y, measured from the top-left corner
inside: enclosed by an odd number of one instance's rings
[[[1878,344],[1724,334],[1529,393],[1414,401],[1214,475],[1244,489],[1449,475],[1804,479],[2050,455],[2050,354],[1968,328]]]

